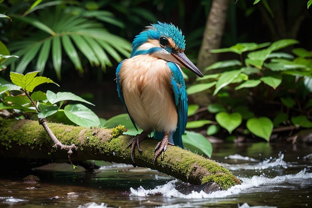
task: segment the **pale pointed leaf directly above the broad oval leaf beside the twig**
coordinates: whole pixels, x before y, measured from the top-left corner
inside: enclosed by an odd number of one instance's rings
[[[73,94],[71,92],[58,92],[55,94],[54,92],[47,90],[46,98],[49,100],[51,104],[55,104],[57,102],[65,101],[65,100],[73,100],[73,101],[79,101],[79,102],[87,103],[90,105],[94,105],[90,103],[89,101],[86,101],[85,99],[82,99],[76,94]]]

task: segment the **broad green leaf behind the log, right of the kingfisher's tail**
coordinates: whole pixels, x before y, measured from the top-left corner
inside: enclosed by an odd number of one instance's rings
[[[197,152],[199,155],[205,154],[211,157],[212,145],[202,134],[185,131],[185,134],[182,135],[182,142],[184,149]]]

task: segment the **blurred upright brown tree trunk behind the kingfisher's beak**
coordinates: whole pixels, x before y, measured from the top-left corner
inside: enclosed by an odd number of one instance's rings
[[[210,53],[210,50],[220,47],[229,4],[230,0],[212,2],[197,60],[197,67],[201,71],[217,61],[218,55]]]

